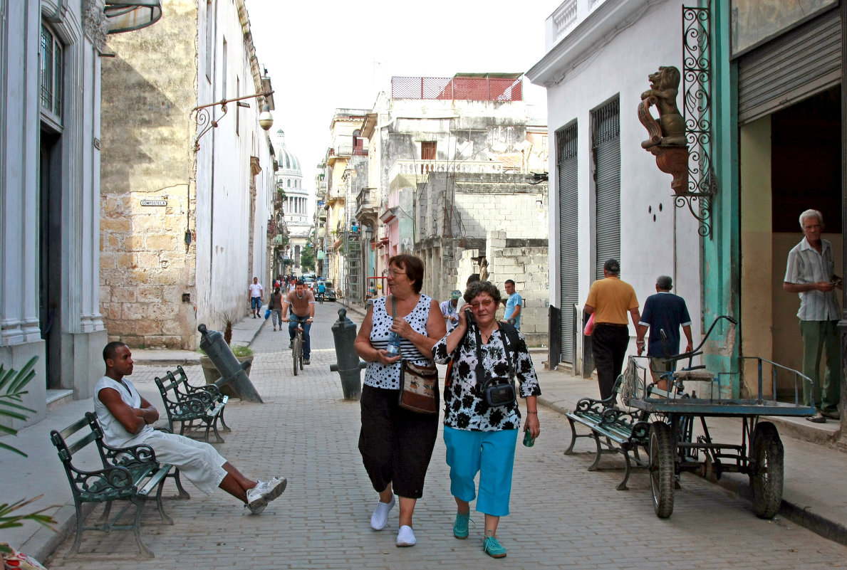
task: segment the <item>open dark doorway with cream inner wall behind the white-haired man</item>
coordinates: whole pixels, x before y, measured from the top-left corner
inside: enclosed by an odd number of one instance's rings
[[[739,130],[741,196],[741,354],[802,368],[796,293],[783,290],[800,213],[821,211],[835,272],[844,260],[841,211],[841,86],[836,85]],[[823,363],[822,363],[823,364]],[[755,394],[755,367],[744,384]],[[767,371],[769,373],[769,371]],[[771,395],[765,379],[765,394]],[[777,373],[778,399],[794,401],[794,377]]]

